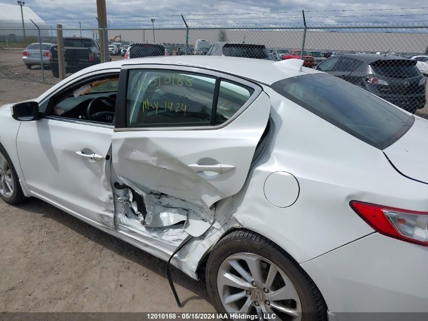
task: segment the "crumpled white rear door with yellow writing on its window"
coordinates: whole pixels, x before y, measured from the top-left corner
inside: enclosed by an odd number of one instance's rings
[[[124,66],[119,87],[126,98],[116,110],[112,164],[126,185],[207,212],[242,189],[270,111],[258,85],[144,65]]]

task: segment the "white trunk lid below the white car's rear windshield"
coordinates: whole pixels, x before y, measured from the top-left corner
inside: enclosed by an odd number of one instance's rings
[[[428,149],[425,137],[428,137],[428,120],[416,117],[407,133],[383,152],[401,174],[428,184]]]

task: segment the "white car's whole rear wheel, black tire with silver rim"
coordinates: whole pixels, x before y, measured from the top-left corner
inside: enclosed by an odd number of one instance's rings
[[[230,283],[230,276],[243,283],[231,286],[238,283]],[[208,258],[206,280],[219,313],[241,310],[261,316],[260,311],[265,311],[276,313],[277,320],[327,321],[327,305],[314,281],[284,249],[252,231],[233,231],[216,244]],[[288,299],[276,292],[286,286]]]

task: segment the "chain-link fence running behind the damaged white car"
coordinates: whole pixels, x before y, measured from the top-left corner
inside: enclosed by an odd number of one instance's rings
[[[184,19],[183,19],[184,20]],[[140,27],[0,26],[0,55],[27,46],[22,65],[55,83],[97,63],[164,55],[303,59],[317,68],[428,119],[428,24],[248,24]],[[62,59],[59,52],[62,52]],[[43,61],[43,63],[41,63]],[[4,74],[4,73],[3,73]],[[4,76],[4,75],[3,75]]]

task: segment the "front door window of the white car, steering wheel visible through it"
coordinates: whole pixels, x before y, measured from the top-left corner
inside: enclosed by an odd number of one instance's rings
[[[82,82],[72,91],[66,90],[52,98],[49,115],[111,123],[115,114],[118,81],[119,75],[109,75]]]

